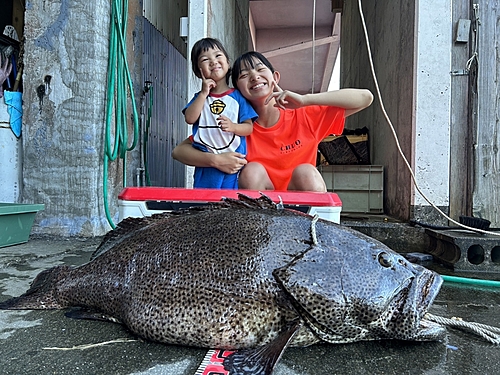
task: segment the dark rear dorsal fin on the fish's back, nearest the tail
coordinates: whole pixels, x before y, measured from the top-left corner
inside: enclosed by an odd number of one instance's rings
[[[111,247],[115,246],[118,242],[123,241],[130,234],[147,227],[148,225],[164,220],[171,215],[169,213],[160,213],[152,216],[145,217],[127,217],[120,221],[115,229],[106,233],[100,243],[90,257],[90,260],[97,258],[99,255],[108,251]]]

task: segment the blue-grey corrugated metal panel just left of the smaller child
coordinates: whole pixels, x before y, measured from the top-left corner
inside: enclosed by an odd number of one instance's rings
[[[143,30],[143,77],[152,83],[144,98],[144,126],[151,95],[153,102],[146,159],[151,185],[183,187],[185,166],[174,161],[171,153],[187,134],[181,112],[187,103],[187,62],[146,18]]]

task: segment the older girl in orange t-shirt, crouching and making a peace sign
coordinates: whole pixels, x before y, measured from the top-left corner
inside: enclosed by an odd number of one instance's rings
[[[279,78],[258,52],[243,54],[233,65],[233,85],[259,115],[247,137],[246,157],[234,152],[202,156],[187,140],[174,149],[174,159],[226,173],[241,170],[240,189],[325,192],[316,169],[318,143],[330,134],[341,134],[344,118],[368,107],[373,95],[365,89],[300,95],[283,91]]]

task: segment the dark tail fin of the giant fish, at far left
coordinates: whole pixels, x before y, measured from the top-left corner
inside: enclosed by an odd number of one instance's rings
[[[0,310],[45,310],[61,309],[57,300],[57,282],[69,270],[68,266],[58,266],[42,271],[31,283],[26,293],[19,297],[0,302]]]

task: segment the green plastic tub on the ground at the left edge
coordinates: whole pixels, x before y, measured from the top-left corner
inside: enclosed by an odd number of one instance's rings
[[[31,227],[43,204],[0,203],[0,247],[28,242]]]

